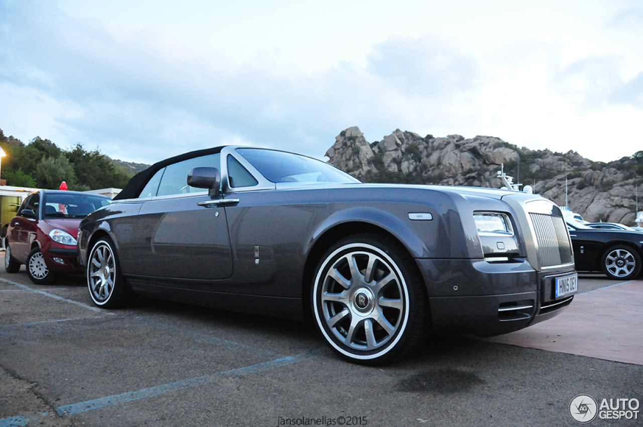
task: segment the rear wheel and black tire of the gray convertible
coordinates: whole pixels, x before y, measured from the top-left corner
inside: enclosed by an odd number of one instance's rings
[[[132,302],[134,293],[123,278],[114,243],[109,237],[96,241],[89,252],[87,288],[98,307],[119,309]]]

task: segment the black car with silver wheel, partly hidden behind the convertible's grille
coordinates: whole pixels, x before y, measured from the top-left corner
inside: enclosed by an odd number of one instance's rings
[[[567,219],[578,271],[602,271],[619,280],[637,278],[641,272],[643,233],[600,230]]]

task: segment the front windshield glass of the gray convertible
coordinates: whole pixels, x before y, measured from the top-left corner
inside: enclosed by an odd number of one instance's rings
[[[298,154],[265,149],[237,149],[273,183],[359,183],[340,169]]]

